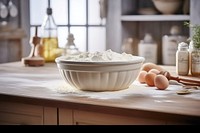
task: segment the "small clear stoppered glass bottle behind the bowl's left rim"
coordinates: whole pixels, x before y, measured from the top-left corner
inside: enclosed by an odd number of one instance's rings
[[[65,45],[65,55],[78,54],[78,53],[79,50],[74,43],[74,35],[70,33],[68,35],[67,43]]]

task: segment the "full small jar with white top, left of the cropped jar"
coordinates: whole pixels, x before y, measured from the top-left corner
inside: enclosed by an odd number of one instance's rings
[[[178,44],[176,52],[176,73],[178,75],[188,75],[189,72],[189,51],[188,44],[181,42]]]

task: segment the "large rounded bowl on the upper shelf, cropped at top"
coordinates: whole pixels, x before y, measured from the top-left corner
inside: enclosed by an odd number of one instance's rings
[[[154,6],[162,14],[175,14],[179,10],[182,0],[152,0]]]

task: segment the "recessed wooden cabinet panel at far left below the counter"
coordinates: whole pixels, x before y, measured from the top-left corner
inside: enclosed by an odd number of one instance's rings
[[[43,107],[0,102],[0,124],[41,125],[43,124]]]

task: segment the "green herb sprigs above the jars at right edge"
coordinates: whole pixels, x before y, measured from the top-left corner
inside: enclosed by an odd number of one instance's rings
[[[200,25],[192,25],[188,22],[184,22],[184,25],[192,29],[193,34],[190,40],[193,41],[194,48],[200,49]]]

